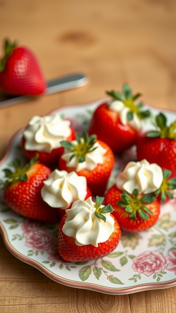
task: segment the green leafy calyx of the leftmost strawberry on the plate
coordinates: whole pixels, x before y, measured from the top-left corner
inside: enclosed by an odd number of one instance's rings
[[[12,172],[10,169],[4,169],[3,172],[5,173],[5,178],[7,178],[7,180],[5,182],[1,182],[3,183],[3,190],[5,190],[9,185],[11,185],[13,182],[16,182],[17,180],[23,181],[23,182],[27,182],[28,181],[28,176],[27,176],[27,172],[28,170],[35,164],[37,163],[37,158],[38,158],[38,154],[36,154],[36,156],[34,156],[30,162],[26,165],[24,165],[23,167],[21,167],[21,162],[19,159],[14,159],[11,166],[15,168],[15,171]]]

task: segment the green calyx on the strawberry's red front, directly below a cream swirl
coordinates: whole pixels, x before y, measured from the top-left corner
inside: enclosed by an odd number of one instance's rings
[[[117,202],[119,207],[125,208],[125,211],[130,213],[129,218],[137,219],[136,213],[143,220],[149,219],[149,215],[153,215],[152,211],[146,207],[146,204],[152,203],[156,199],[153,193],[147,193],[140,198],[138,189],[134,189],[132,195],[127,191],[123,191],[121,201]]]

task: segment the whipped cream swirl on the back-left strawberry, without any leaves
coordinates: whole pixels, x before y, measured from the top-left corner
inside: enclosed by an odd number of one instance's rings
[[[70,121],[62,120],[58,114],[43,117],[35,115],[23,131],[25,149],[49,153],[61,147],[60,141],[65,140],[70,134]]]

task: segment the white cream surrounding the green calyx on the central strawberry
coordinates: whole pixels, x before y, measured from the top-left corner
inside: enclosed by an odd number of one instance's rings
[[[82,138],[81,141],[84,142]],[[74,146],[78,145],[78,142],[76,140],[71,141],[71,143]],[[94,151],[86,153],[85,161],[81,163],[78,162],[78,156],[74,156],[70,161],[70,158],[74,154],[74,152],[68,149],[64,150],[64,154],[61,156],[61,158],[66,162],[67,167],[74,167],[76,169],[76,172],[82,171],[84,169],[92,171],[97,166],[97,164],[103,163],[103,156],[107,151],[98,143],[98,141],[96,141],[92,149],[95,147],[97,148]]]

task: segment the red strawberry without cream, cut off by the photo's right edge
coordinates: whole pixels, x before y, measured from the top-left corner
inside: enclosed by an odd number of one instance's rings
[[[157,163],[176,177],[176,122],[167,126],[163,113],[156,116],[157,129],[140,136],[137,141],[137,159]]]

